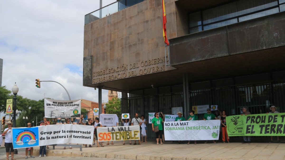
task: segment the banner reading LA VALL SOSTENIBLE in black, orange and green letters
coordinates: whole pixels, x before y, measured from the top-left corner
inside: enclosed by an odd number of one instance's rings
[[[98,127],[98,141],[140,140],[140,126]]]

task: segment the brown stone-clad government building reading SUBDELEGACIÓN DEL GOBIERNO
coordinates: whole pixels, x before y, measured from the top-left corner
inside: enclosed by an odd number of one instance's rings
[[[285,112],[284,0],[165,0],[170,56],[162,2],[132,2],[85,16],[84,86],[129,93],[121,110],[131,115],[181,107],[187,117],[197,105]]]

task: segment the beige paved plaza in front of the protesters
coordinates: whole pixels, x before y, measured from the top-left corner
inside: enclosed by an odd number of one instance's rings
[[[199,142],[198,144],[189,145],[171,143],[156,145],[155,141],[149,140],[141,145],[123,145],[121,141],[114,142],[114,145],[106,145],[105,147],[82,148],[73,147],[73,149],[63,149],[62,146],[55,146],[55,150],[50,146],[47,149],[47,156],[60,157],[101,157],[111,159],[140,159],[140,160],[233,160],[233,159],[284,159],[285,143],[212,143],[207,144]],[[133,142],[132,142],[133,143]],[[38,159],[39,147],[34,147],[35,159]],[[15,155],[16,159],[24,159],[25,153],[19,152]],[[45,157],[41,157],[45,158]],[[0,159],[5,159],[1,156]],[[82,158],[84,159],[84,158]]]

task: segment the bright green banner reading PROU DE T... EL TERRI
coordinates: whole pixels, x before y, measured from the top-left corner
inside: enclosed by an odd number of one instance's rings
[[[227,116],[228,136],[284,136],[285,113]]]

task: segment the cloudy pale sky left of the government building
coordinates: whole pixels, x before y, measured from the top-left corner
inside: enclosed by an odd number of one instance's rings
[[[103,0],[103,6],[115,0]],[[98,102],[98,90],[83,87],[84,15],[99,9],[99,0],[0,1],[2,86],[28,99],[70,98]],[[102,90],[107,102],[107,90]]]

